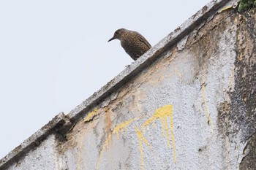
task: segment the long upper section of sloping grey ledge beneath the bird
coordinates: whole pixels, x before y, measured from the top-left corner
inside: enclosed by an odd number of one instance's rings
[[[127,68],[114,77],[113,80],[110,80],[110,82],[97,90],[97,92],[86,99],[86,101],[83,101],[80,105],[75,107],[75,109],[72,109],[68,114],[70,121],[75,123],[80,120],[80,118],[83,117],[83,114],[94,109],[97,104],[104,101],[105,98],[114,93],[121,87],[121,85],[124,85],[124,83],[138,75],[143,69],[151,66],[154,61],[157,61],[160,55],[164,54],[170,47],[173,47],[180,42],[181,39],[187,36],[191,31],[195,30],[197,26],[206,22],[211,15],[219,12],[219,9],[222,9],[225,5],[236,7],[238,1],[239,0],[213,0],[206,4],[206,6],[200,9],[195,15],[192,15],[192,17],[176,28],[176,30],[165,36],[165,38],[158,42],[157,45],[154,45],[151,50],[148,50],[148,52],[138,58],[138,60],[127,66]]]

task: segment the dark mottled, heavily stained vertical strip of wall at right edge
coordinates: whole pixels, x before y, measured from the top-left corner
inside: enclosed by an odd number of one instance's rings
[[[238,124],[232,134],[241,131],[247,142],[241,169],[256,169],[256,11],[244,12],[238,20],[238,56],[236,58],[236,85],[231,93],[231,123]]]

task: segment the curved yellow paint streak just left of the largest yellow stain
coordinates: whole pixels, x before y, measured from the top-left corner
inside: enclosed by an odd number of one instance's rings
[[[135,119],[132,119],[132,120],[127,120],[124,123],[120,123],[119,125],[116,126],[116,128],[113,129],[112,133],[105,140],[105,142],[103,144],[103,147],[102,147],[102,150],[99,153],[99,159],[98,159],[98,163],[97,163],[96,169],[99,169],[99,161],[102,158],[102,154],[105,151],[105,149],[108,148],[110,140],[112,139],[113,134],[116,133],[117,139],[119,139],[119,131],[121,131],[121,134],[123,134],[124,133],[124,129],[127,130],[127,127],[129,125],[129,123],[132,123],[134,120],[137,120],[137,119],[135,118]]]

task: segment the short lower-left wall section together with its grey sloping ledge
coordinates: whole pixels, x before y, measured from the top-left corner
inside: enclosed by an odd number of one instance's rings
[[[69,117],[63,112],[0,160],[0,170],[58,169],[59,142],[69,129]]]

